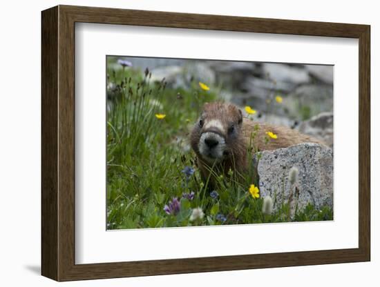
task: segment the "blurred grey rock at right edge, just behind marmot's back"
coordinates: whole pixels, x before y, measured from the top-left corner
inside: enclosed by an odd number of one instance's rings
[[[303,121],[297,128],[300,132],[321,139],[332,148],[334,144],[334,117],[332,112],[321,112],[308,121]]]

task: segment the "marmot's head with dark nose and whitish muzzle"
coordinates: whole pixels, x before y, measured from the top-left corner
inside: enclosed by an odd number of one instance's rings
[[[223,161],[240,148],[242,123],[241,110],[231,103],[205,103],[191,132],[191,148],[209,164]]]

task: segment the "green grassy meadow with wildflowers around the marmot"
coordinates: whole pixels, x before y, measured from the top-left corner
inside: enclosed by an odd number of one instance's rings
[[[109,63],[112,63],[111,61]],[[149,71],[108,66],[107,115],[107,228],[159,228],[220,224],[330,220],[329,208],[309,205],[289,217],[289,204],[264,215],[263,199],[248,192],[252,179],[240,184],[218,177],[218,196],[210,196],[194,164],[187,137],[203,103],[218,99],[218,90],[190,87],[169,89],[164,80],[151,82]],[[158,119],[156,114],[166,115]],[[192,175],[182,170],[193,168]],[[183,194],[193,192],[193,199]],[[167,214],[164,207],[177,198],[180,207]],[[204,217],[191,221],[194,208]]]

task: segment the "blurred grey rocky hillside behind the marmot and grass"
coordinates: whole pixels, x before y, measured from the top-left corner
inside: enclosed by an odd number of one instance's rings
[[[190,88],[192,81],[217,87],[222,99],[242,108],[254,108],[257,121],[289,126],[333,146],[333,66],[141,57],[124,59],[142,71],[149,68],[153,80],[165,78],[171,88]],[[116,61],[113,65],[115,69],[121,68]],[[281,97],[281,103],[276,102],[276,97]]]

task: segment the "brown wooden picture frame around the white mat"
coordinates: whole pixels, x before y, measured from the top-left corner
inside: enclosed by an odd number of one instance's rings
[[[370,26],[56,6],[42,20],[41,273],[57,281],[370,261]],[[75,23],[359,39],[359,248],[75,264]]]

